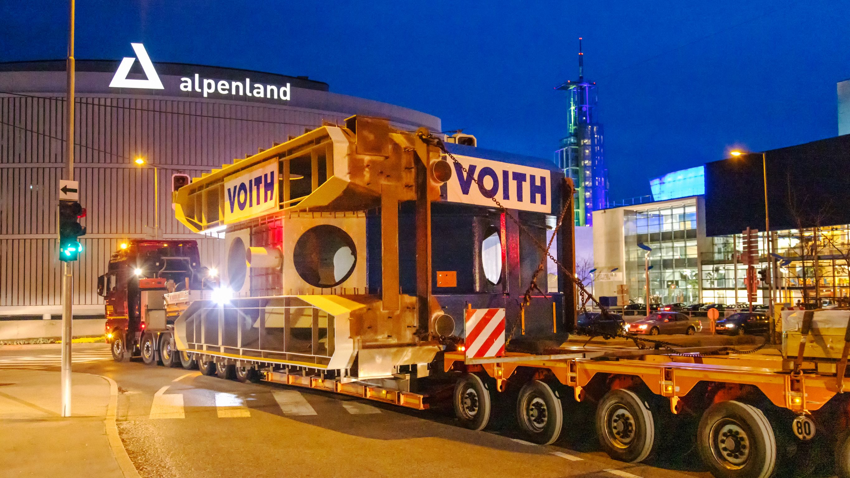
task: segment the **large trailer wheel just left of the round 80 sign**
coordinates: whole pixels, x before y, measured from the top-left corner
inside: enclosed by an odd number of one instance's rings
[[[764,413],[746,403],[719,402],[703,413],[700,457],[717,478],[767,478],[776,464],[776,437]]]

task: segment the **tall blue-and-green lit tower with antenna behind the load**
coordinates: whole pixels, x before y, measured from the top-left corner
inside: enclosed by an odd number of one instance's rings
[[[575,183],[575,225],[590,226],[593,211],[608,205],[608,169],[603,155],[602,125],[597,122],[596,82],[584,80],[579,38],[579,80],[555,87],[567,93],[568,133],[555,152],[555,163]]]

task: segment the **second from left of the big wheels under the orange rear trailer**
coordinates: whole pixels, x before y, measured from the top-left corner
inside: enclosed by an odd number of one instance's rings
[[[561,434],[564,410],[549,385],[531,380],[519,391],[517,421],[530,441],[548,445]]]

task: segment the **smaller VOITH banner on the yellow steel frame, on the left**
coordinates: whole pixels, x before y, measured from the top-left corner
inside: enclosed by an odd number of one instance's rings
[[[224,182],[225,224],[277,209],[277,167],[275,158]]]

